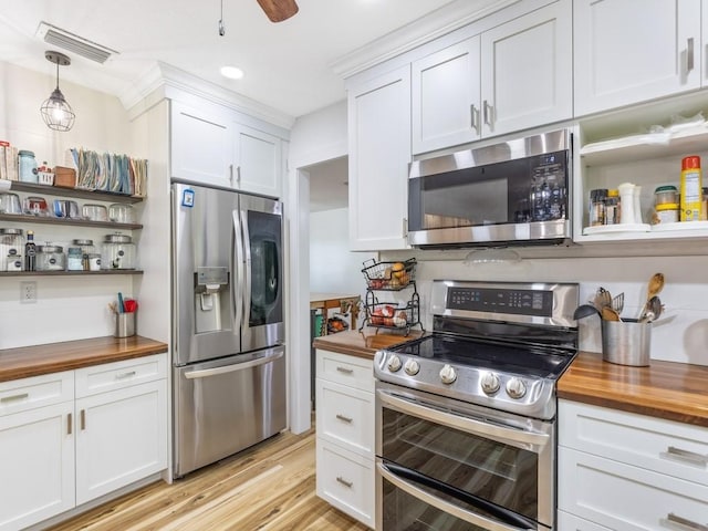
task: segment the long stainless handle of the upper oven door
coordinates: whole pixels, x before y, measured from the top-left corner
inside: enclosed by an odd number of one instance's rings
[[[406,398],[394,396],[393,393],[378,389],[378,397],[382,403],[393,406],[402,413],[423,418],[436,424],[442,424],[450,428],[461,429],[468,434],[483,435],[492,437],[494,440],[509,441],[514,445],[528,445],[542,447],[545,446],[550,437],[546,434],[538,434],[531,431],[524,431],[522,429],[504,428],[503,426],[496,426],[493,424],[483,423],[481,420],[475,420],[461,415],[451,415],[449,413],[430,409],[425,406],[420,406],[415,402],[410,402]]]

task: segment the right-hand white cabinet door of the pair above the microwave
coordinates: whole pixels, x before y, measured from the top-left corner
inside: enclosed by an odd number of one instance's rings
[[[482,33],[482,136],[572,117],[572,49],[569,0]]]

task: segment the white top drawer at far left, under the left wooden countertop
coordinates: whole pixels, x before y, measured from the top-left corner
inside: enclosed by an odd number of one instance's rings
[[[0,383],[0,415],[25,412],[73,399],[73,371]]]

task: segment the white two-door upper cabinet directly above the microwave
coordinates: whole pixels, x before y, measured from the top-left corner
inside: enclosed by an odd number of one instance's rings
[[[413,63],[413,153],[570,118],[572,4],[561,0]]]

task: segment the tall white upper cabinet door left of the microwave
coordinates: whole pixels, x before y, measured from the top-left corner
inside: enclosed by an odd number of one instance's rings
[[[410,66],[348,87],[350,248],[405,249]]]

